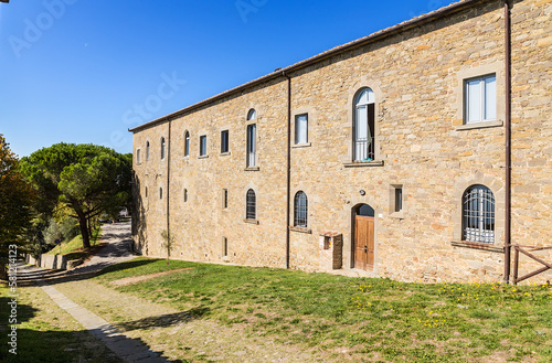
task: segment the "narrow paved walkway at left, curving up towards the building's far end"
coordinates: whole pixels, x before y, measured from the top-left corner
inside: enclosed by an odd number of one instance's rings
[[[86,328],[94,337],[102,340],[107,348],[125,362],[161,363],[168,362],[159,353],[151,351],[139,340],[130,339],[120,333],[115,327],[95,314],[94,312],[78,306],[60,292],[55,287],[47,284],[57,279],[71,280],[73,278],[89,277],[92,274],[116,263],[132,259],[130,254],[130,224],[120,223],[104,225],[102,239],[108,245],[85,264],[62,274],[49,274],[39,267],[28,266],[21,263],[18,266],[18,275],[22,281],[34,281],[46,292],[50,298],[62,309],[67,311],[76,321]]]

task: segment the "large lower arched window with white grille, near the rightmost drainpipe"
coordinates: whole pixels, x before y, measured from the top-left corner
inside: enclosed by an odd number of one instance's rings
[[[471,185],[463,197],[463,241],[495,243],[495,195],[485,185]]]

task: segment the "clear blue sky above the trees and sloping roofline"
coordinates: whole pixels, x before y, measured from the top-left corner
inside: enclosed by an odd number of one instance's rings
[[[454,0],[0,3],[0,134],[131,152],[128,128]]]

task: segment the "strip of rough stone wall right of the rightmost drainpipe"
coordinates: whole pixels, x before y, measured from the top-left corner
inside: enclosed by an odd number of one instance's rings
[[[552,246],[552,2],[512,7],[512,243]],[[535,253],[549,263],[552,250]],[[523,258],[520,275],[534,270]],[[552,271],[533,280],[551,280]]]

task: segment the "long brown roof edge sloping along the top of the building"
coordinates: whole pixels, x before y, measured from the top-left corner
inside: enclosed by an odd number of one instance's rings
[[[402,23],[399,23],[396,25],[393,25],[393,26],[390,26],[390,28],[386,28],[386,29],[383,29],[383,30],[380,30],[375,33],[372,33],[370,35],[367,35],[367,36],[363,36],[363,38],[360,38],[355,41],[352,41],[352,42],[349,42],[349,43],[346,43],[346,44],[342,44],[342,45],[338,45],[331,50],[328,50],[326,52],[322,52],[322,53],[319,53],[312,57],[309,57],[307,60],[304,60],[304,61],[300,61],[300,62],[297,62],[295,64],[291,64],[285,68],[282,68],[282,70],[277,70],[273,73],[269,73],[267,75],[264,75],[259,78],[256,78],[256,79],[253,79],[253,81],[250,81],[247,83],[244,83],[237,87],[234,87],[234,88],[231,88],[231,89],[227,89],[225,92],[222,92],[215,96],[212,96],[212,97],[209,97],[209,98],[205,98],[203,100],[200,100],[199,103],[195,103],[193,105],[190,105],[188,107],[184,107],[180,110],[177,110],[174,113],[171,113],[169,115],[166,115],[166,116],[162,116],[162,117],[159,117],[155,120],[151,120],[151,121],[148,121],[146,124],[142,124],[142,125],[139,125],[137,127],[134,127],[134,128],[129,128],[128,131],[129,132],[137,132],[137,131],[140,131],[142,129],[146,129],[146,128],[149,128],[151,126],[155,126],[157,124],[161,124],[162,121],[169,121],[170,118],[174,118],[174,117],[178,117],[178,116],[181,116],[183,114],[187,114],[187,113],[190,113],[197,108],[200,108],[200,107],[203,107],[205,105],[209,105],[211,103],[214,103],[219,99],[222,99],[224,97],[227,97],[230,95],[233,95],[237,92],[241,92],[241,90],[245,90],[250,87],[253,87],[253,86],[256,86],[256,85],[259,85],[259,84],[263,84],[263,83],[266,83],[268,81],[272,81],[272,79],[275,79],[284,74],[287,74],[289,72],[296,72],[296,71],[299,71],[301,68],[305,68],[309,65],[312,65],[312,64],[316,64],[316,63],[319,63],[321,61],[325,61],[333,55],[337,55],[337,54],[340,54],[340,53],[343,53],[343,52],[347,52],[347,51],[351,51],[351,50],[354,50],[357,47],[360,47],[360,46],[363,46],[363,45],[367,45],[369,43],[372,43],[372,42],[375,42],[378,40],[381,40],[383,38],[388,38],[390,35],[393,35],[393,34],[396,34],[396,33],[400,33],[400,32],[403,32],[403,31],[406,31],[411,28],[415,28],[417,25],[421,25],[421,24],[425,24],[425,23],[428,23],[428,22],[432,22],[436,19],[440,19],[443,17],[446,17],[446,15],[450,15],[450,14],[454,14],[456,12],[459,12],[459,11],[463,11],[465,9],[468,9],[475,4],[478,4],[478,3],[484,3],[484,2],[488,2],[490,0],[460,0],[458,2],[455,2],[455,3],[452,3],[447,7],[444,7],[444,8],[440,8],[440,9],[437,9],[435,11],[432,11],[432,12],[428,12],[426,14],[423,14],[423,15],[420,15],[420,17],[416,17],[416,18],[413,18],[411,20],[407,20],[407,21],[404,21]]]

